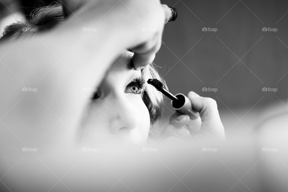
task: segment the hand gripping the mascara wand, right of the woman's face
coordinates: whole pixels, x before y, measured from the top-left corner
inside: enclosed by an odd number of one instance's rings
[[[200,118],[190,120],[188,115],[175,113],[170,118],[170,125],[165,129],[169,140],[179,141],[219,141],[225,139],[224,128],[220,120],[217,103],[214,99],[200,97],[193,91],[188,93],[193,109],[200,113]],[[176,137],[176,138],[175,138]]]

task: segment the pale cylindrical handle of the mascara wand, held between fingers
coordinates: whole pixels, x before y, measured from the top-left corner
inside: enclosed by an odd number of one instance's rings
[[[199,113],[193,110],[192,103],[189,98],[187,98],[182,93],[178,93],[175,95],[178,98],[177,101],[171,101],[172,107],[183,115],[189,115],[190,119],[197,119],[199,117]]]

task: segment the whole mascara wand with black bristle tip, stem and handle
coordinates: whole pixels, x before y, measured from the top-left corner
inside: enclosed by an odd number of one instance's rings
[[[166,89],[164,89],[164,85],[161,81],[158,79],[148,79],[148,84],[154,86],[158,91],[166,95],[168,98],[170,98],[172,107],[178,112],[183,115],[189,115],[190,119],[197,119],[199,117],[199,113],[197,113],[192,108],[192,103],[189,98],[187,98],[182,93],[178,93],[176,95],[173,95]]]

